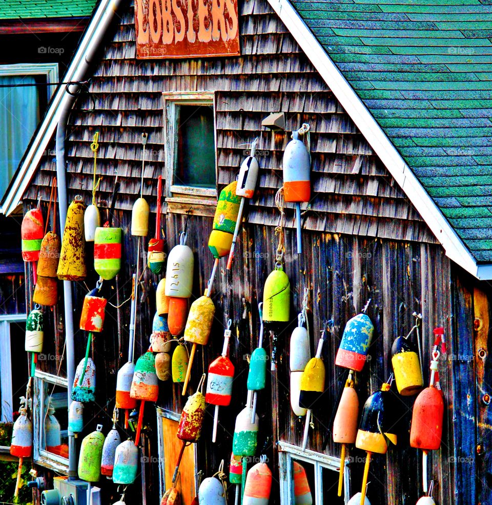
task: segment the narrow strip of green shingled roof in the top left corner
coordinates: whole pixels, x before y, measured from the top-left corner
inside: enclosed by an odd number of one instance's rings
[[[96,0],[1,0],[0,19],[90,16]]]

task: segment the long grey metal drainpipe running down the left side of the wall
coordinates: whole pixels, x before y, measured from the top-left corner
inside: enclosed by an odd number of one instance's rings
[[[99,15],[98,25],[90,41],[90,47],[87,49],[84,62],[79,66],[76,72],[75,79],[81,80],[86,74],[92,57],[99,47],[99,43],[108,28],[113,15],[118,8],[121,0],[112,0],[103,2],[105,6],[99,6],[103,12]],[[97,15],[97,14],[96,14]],[[76,85],[72,86],[76,88]],[[67,99],[63,104],[63,109],[56,127],[56,179],[58,185],[58,206],[60,216],[60,233],[63,238],[65,230],[65,220],[67,217],[67,178],[66,178],[66,160],[65,160],[65,139],[67,130],[67,121],[72,110],[74,97],[67,93]],[[63,281],[63,294],[65,303],[65,352],[67,355],[67,381],[68,381],[68,407],[72,403],[72,384],[75,377],[75,350],[73,340],[73,303],[72,303],[72,283],[69,280]],[[75,449],[75,436],[70,431],[68,432],[68,478],[74,480],[77,478],[77,454]]]

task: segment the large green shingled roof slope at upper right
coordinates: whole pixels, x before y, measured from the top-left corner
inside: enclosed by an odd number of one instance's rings
[[[291,3],[477,261],[492,261],[492,0]]]

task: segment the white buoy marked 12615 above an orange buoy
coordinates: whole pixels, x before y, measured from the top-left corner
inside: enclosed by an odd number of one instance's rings
[[[186,245],[186,233],[181,233],[179,244],[171,249],[166,269],[166,296],[190,298],[193,290],[193,251]]]

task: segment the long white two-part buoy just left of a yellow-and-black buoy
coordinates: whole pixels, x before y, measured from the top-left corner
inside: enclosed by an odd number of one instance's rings
[[[303,326],[304,321],[304,315],[301,312],[297,316],[297,327],[292,332],[290,342],[291,407],[294,414],[298,416],[304,416],[308,412],[307,409],[299,406],[302,372],[310,359],[308,330]]]

